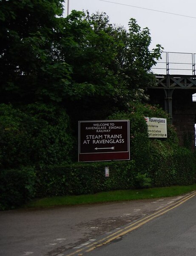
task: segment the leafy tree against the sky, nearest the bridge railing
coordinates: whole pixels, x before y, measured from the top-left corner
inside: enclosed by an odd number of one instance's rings
[[[130,19],[127,31],[123,27],[111,25],[108,16],[104,13],[91,17],[88,14],[87,17],[97,33],[104,31],[117,42],[116,55],[110,66],[110,70],[113,70],[116,79],[120,81],[117,84],[121,84],[122,87],[124,85],[132,99],[136,97],[135,90],[151,87],[155,83],[151,67],[160,58],[162,47],[157,44],[153,51],[149,50],[151,44],[149,29],[141,29],[134,18]],[[125,93],[121,96],[125,96]]]

